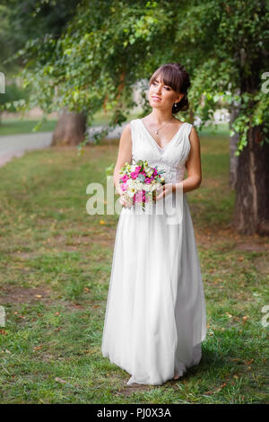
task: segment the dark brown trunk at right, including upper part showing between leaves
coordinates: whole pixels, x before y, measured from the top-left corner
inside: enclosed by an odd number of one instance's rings
[[[239,49],[239,92],[256,93],[265,56],[251,60],[245,48]],[[246,72],[250,68],[250,71]],[[248,102],[251,110],[254,101]],[[236,201],[232,224],[242,234],[269,235],[269,144],[263,125],[249,127],[247,145],[240,151],[236,175]],[[261,141],[264,145],[261,146]]]

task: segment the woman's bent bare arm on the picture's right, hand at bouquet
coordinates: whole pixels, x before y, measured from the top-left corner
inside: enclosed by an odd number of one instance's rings
[[[191,149],[186,162],[187,178],[178,182],[183,184],[183,192],[188,192],[190,190],[199,188],[202,182],[200,140],[195,127],[192,127],[189,140]],[[178,183],[173,183],[173,192],[177,189]]]

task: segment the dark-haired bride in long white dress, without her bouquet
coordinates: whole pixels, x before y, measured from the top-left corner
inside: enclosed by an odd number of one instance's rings
[[[126,162],[147,160],[165,171],[152,213],[137,213],[120,198],[101,351],[131,374],[127,385],[177,380],[202,357],[204,286],[186,196],[201,184],[200,141],[193,125],[173,116],[188,110],[189,86],[184,66],[159,67],[150,80],[151,114],[131,120],[119,142],[114,182],[120,195]],[[169,223],[167,209],[156,210],[178,192],[180,224]]]

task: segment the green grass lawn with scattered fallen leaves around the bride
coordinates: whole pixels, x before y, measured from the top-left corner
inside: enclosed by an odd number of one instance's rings
[[[203,357],[178,382],[140,389],[100,351],[118,215],[85,208],[87,185],[105,185],[117,145],[81,157],[33,151],[0,168],[2,403],[268,402],[268,239],[230,228],[227,137],[201,136],[201,145],[203,183],[187,198],[204,279]]]

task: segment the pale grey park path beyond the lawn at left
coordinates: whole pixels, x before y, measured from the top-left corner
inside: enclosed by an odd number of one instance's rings
[[[101,126],[89,129],[89,142],[91,142],[91,136],[100,129],[102,129]],[[112,139],[120,136],[122,130],[123,127],[115,127],[106,138]],[[25,151],[48,148],[52,142],[52,134],[53,132],[36,132],[0,136],[0,167],[12,160],[13,157],[21,157]]]

